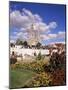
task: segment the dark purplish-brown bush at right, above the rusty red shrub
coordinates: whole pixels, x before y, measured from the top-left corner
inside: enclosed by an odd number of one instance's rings
[[[52,71],[60,68],[66,67],[66,56],[65,52],[62,52],[61,54],[53,53],[53,55],[50,58],[50,68]]]

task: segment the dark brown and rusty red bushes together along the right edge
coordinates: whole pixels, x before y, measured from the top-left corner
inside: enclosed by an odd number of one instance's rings
[[[49,65],[43,65],[44,71],[51,72],[52,74],[52,86],[53,85],[65,85],[66,83],[66,62],[65,52],[61,54],[53,53],[50,58]]]

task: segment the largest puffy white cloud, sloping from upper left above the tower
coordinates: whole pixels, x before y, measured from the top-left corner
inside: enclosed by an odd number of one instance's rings
[[[49,29],[56,28],[56,22],[50,22],[48,25],[43,22],[42,18],[38,14],[33,14],[27,9],[22,9],[22,12],[19,10],[12,11],[10,13],[10,27],[16,28],[25,28],[31,27],[31,24],[34,23],[36,30],[45,31]]]

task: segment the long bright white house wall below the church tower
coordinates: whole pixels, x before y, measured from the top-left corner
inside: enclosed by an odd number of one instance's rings
[[[38,55],[39,52],[41,52],[42,55],[48,55],[49,50],[48,49],[29,49],[29,48],[20,48],[20,47],[12,47],[10,48],[10,54],[12,52],[15,52],[16,55],[22,55],[23,58],[25,58],[25,55],[34,56],[34,53]]]

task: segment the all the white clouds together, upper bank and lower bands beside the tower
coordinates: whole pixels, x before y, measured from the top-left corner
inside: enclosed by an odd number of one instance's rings
[[[50,40],[54,38],[65,38],[65,32],[59,31],[57,34],[51,33],[51,30],[57,27],[57,23],[55,21],[47,24],[46,22],[43,22],[40,15],[37,13],[33,14],[31,11],[23,8],[22,12],[19,10],[10,12],[10,27],[19,29],[18,33],[14,32],[16,36],[11,36],[10,39],[15,40],[20,36],[24,39],[27,39],[28,32],[31,29],[32,24],[34,24],[34,30],[40,32],[40,39]],[[41,34],[42,32],[45,32],[45,34]]]

